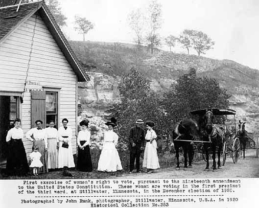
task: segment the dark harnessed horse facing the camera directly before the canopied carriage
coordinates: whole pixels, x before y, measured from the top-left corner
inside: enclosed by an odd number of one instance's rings
[[[216,146],[218,146],[218,168],[221,168],[220,165],[220,152],[223,146],[223,138],[224,138],[224,131],[220,128],[219,125],[213,125],[214,115],[211,111],[207,111],[206,114],[203,116],[203,128],[205,131],[202,132],[202,137],[204,141],[210,141],[210,143],[204,143],[205,154],[206,154],[206,171],[209,171],[209,147],[212,148],[212,160],[213,160],[213,170],[216,169]]]

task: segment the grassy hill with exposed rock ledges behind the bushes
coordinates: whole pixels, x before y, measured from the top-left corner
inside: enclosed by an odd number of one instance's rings
[[[131,44],[75,42],[71,46],[90,74],[92,81],[80,84],[82,112],[100,116],[119,102],[118,82],[122,74],[136,67],[152,79],[151,87],[165,92],[175,80],[195,68],[199,76],[216,78],[221,87],[232,94],[231,108],[237,119],[246,120],[248,131],[259,124],[259,70],[231,60],[217,60],[203,56],[178,54],[156,50],[153,55],[146,47]]]

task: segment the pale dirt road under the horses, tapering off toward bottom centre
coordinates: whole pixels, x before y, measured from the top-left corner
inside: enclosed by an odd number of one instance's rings
[[[221,158],[222,160],[222,158]],[[210,161],[212,165],[212,161]],[[227,156],[226,164],[222,169],[204,171],[206,162],[194,162],[193,167],[187,171],[175,170],[175,167],[159,169],[155,173],[124,173],[116,179],[125,178],[258,178],[259,177],[259,158],[256,158],[256,151],[249,149],[246,151],[246,159],[239,158],[237,163],[233,163],[232,158]]]

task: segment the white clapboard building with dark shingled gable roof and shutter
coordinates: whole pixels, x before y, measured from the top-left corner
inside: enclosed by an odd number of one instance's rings
[[[17,1],[19,2],[19,1]],[[44,1],[0,8],[0,164],[6,162],[5,137],[19,117],[27,155],[32,142],[25,133],[37,119],[69,120],[76,153],[77,82],[89,77]],[[26,84],[24,84],[26,83]]]

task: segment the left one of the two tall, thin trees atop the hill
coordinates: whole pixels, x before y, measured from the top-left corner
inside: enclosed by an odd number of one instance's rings
[[[138,8],[129,13],[127,21],[130,28],[134,31],[136,35],[136,42],[138,46],[141,46],[145,30],[145,18],[144,14],[141,12],[141,9]]]

